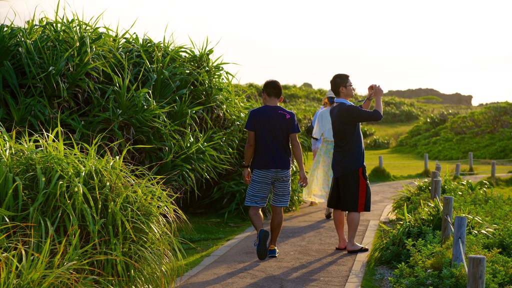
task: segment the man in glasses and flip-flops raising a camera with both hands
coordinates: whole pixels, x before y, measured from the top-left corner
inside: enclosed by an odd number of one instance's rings
[[[338,234],[336,250],[348,253],[367,252],[368,248],[355,242],[361,212],[370,212],[371,191],[365,166],[365,147],[361,134],[361,122],[382,120],[382,89],[368,87],[368,98],[360,106],[349,100],[354,97],[350,76],[336,74],[331,79],[331,90],[336,96],[330,109],[334,151],[332,154],[333,180],[327,207],[332,208],[334,227]],[[375,98],[375,109],[370,108]],[[347,211],[348,239],[345,237],[345,213]]]

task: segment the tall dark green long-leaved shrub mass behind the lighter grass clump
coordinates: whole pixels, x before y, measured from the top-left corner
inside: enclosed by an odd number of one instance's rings
[[[60,125],[76,142],[115,143],[104,147],[164,176],[188,196],[181,205],[200,203],[239,173],[255,102],[233,88],[209,44],[154,42],[102,27],[100,17],[57,10],[24,27],[0,25],[0,122],[33,133]]]

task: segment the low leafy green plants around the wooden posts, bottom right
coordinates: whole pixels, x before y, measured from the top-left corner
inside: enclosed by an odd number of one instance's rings
[[[465,254],[486,257],[486,286],[512,286],[512,198],[496,193],[483,180],[473,183],[448,178],[443,179],[441,195],[453,196],[454,215],[467,218]],[[394,287],[464,287],[467,276],[463,266],[451,265],[451,240],[441,243],[442,209],[430,200],[430,181],[406,187],[393,203],[392,212],[395,220],[381,225],[369,265],[395,269]]]

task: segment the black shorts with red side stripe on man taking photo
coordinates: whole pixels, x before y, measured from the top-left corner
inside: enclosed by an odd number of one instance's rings
[[[371,191],[366,168],[332,179],[327,207],[348,212],[370,212]]]

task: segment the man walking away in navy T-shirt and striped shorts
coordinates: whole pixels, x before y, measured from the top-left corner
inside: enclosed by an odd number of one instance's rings
[[[297,138],[301,129],[295,113],[279,106],[283,101],[281,84],[276,80],[266,81],[262,97],[263,106],[251,110],[247,117],[247,142],[242,163],[243,179],[249,185],[245,205],[249,207],[249,219],[258,233],[254,245],[260,260],[279,255],[277,242],[283,227],[283,208],[288,207],[291,194],[292,152],[298,165],[299,184],[301,187],[308,185],[301,143]],[[269,233],[263,229],[261,208],[267,204],[270,194],[272,216]]]

